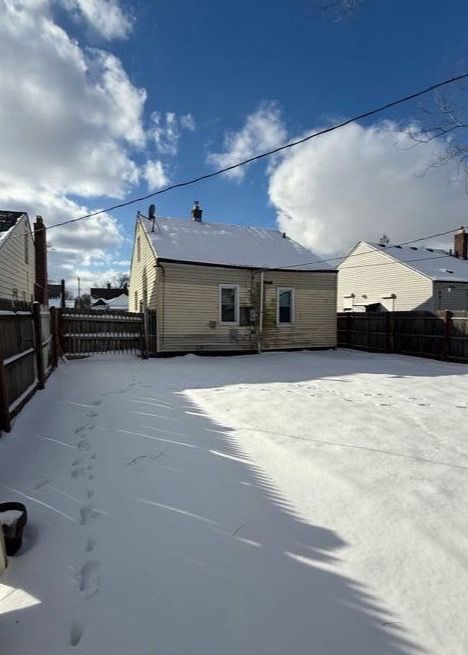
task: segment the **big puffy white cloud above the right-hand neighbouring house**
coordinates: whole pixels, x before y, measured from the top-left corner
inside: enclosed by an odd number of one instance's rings
[[[431,167],[445,147],[415,144],[407,128],[382,122],[291,149],[269,182],[280,229],[335,254],[383,232],[398,242],[455,227],[466,215],[463,181],[455,164]]]

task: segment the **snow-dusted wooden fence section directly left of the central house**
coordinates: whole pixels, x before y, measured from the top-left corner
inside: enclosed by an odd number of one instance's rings
[[[65,355],[109,352],[148,355],[148,321],[144,314],[62,309],[59,316],[60,344]]]

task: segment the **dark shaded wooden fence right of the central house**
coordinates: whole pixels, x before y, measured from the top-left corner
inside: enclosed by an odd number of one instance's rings
[[[338,345],[468,362],[468,312],[344,312]]]

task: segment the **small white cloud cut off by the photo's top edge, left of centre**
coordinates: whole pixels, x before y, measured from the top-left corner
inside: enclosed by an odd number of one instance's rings
[[[133,27],[132,17],[117,0],[62,0],[105,39],[126,38]]]

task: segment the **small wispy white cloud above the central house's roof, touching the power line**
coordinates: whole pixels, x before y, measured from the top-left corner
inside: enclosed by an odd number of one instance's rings
[[[278,107],[274,103],[264,103],[247,116],[238,132],[228,132],[225,135],[223,152],[210,154],[208,162],[216,167],[226,168],[276,148],[286,141],[286,137]],[[243,166],[228,171],[225,175],[240,181],[244,178],[245,171],[246,167]]]

